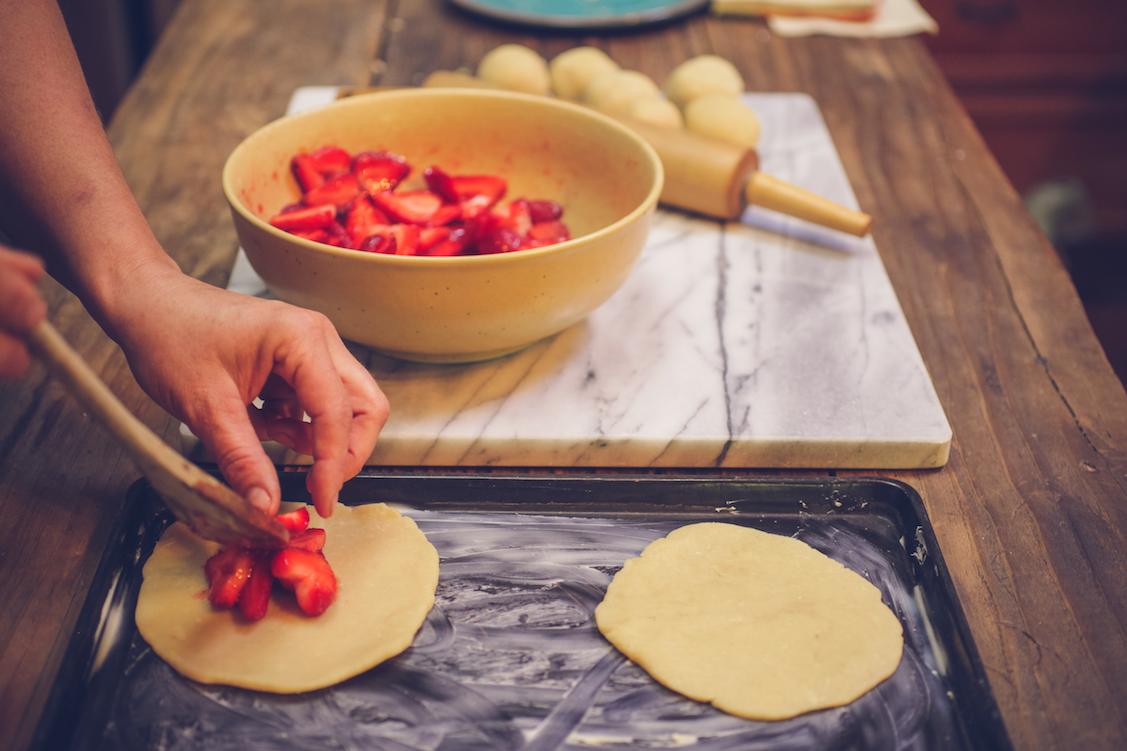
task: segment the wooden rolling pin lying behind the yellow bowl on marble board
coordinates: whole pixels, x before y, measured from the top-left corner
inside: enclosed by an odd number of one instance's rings
[[[497,88],[455,71],[435,71],[423,82],[436,88]],[[758,171],[753,149],[742,149],[690,131],[657,127],[619,117],[649,142],[665,167],[662,202],[718,219],[738,219],[747,204],[864,237],[872,218],[797,185]]]

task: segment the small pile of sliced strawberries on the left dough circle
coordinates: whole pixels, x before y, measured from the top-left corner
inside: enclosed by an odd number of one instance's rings
[[[277,581],[293,592],[307,616],[320,616],[337,595],[337,577],[325,558],[325,530],[309,528],[309,509],[278,514],[290,531],[282,550],[222,548],[204,564],[207,600],[213,608],[238,607],[248,621],[261,620],[269,610],[270,592]]]

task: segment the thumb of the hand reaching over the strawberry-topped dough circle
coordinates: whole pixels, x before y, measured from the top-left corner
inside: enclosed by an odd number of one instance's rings
[[[224,399],[205,407],[194,423],[188,427],[215,457],[234,492],[259,511],[276,514],[282,500],[277,469],[258,441],[247,407],[237,398]]]

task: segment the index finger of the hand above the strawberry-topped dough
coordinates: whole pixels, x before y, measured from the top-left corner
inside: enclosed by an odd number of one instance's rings
[[[332,366],[326,337],[331,325],[320,313],[298,311],[293,328],[275,347],[274,372],[291,387],[311,421],[313,468],[305,480],[313,505],[321,516],[332,507],[345,479],[352,407],[348,392]]]

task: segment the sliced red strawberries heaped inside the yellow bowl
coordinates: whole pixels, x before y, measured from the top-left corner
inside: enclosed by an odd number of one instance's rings
[[[460,256],[571,239],[559,203],[502,204],[508,184],[497,175],[451,175],[431,166],[423,170],[425,189],[397,189],[411,174],[401,156],[352,156],[335,145],[299,153],[290,166],[301,203],[284,206],[270,223],[314,242],[387,255]]]

